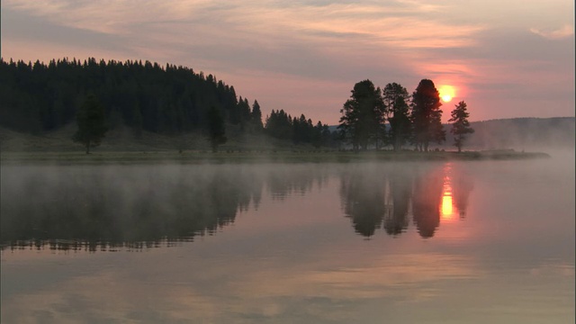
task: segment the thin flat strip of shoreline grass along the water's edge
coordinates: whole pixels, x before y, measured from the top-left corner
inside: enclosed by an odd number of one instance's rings
[[[545,153],[513,150],[470,152],[392,152],[331,150],[266,150],[266,151],[99,151],[86,155],[82,151],[2,152],[3,164],[146,164],[146,163],[252,163],[252,162],[362,162],[362,161],[449,161],[449,160],[515,160],[550,157]]]

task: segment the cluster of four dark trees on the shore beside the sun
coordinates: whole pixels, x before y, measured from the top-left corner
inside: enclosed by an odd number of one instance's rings
[[[411,95],[400,84],[389,83],[381,89],[368,79],[356,83],[351,92],[340,110],[338,130],[354,150],[391,145],[398,151],[410,143],[419,151],[428,151],[430,143],[446,140],[442,103],[432,80],[422,79]],[[450,131],[455,134],[458,151],[466,135],[473,132],[469,116],[464,101],[451,112]]]

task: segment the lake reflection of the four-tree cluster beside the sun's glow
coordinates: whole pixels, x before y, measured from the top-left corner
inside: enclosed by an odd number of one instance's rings
[[[446,166],[354,165],[340,176],[342,209],[356,233],[365,237],[381,227],[400,235],[408,229],[411,213],[419,235],[431,238],[440,226],[444,180],[451,181],[451,198],[461,217],[473,188],[470,178]]]

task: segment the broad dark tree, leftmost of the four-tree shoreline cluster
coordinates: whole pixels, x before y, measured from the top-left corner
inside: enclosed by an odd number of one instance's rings
[[[366,149],[372,139],[379,138],[384,118],[382,91],[370,80],[356,83],[350,99],[340,110],[338,129],[351,140],[355,150]]]

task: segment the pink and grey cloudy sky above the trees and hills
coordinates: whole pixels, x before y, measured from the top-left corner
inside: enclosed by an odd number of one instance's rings
[[[443,121],[574,116],[572,0],[2,0],[2,58],[211,74],[266,116],[338,124],[357,82],[452,86]],[[443,94],[444,91],[441,92]],[[266,118],[266,117],[265,117]]]

